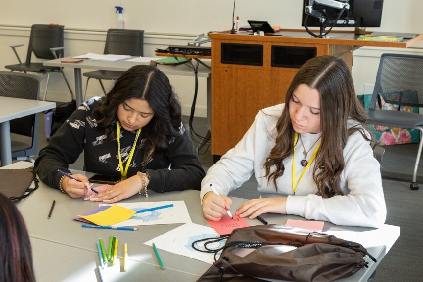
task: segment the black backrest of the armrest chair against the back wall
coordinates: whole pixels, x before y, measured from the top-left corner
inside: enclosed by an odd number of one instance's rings
[[[31,62],[31,54],[40,59],[53,60],[50,48],[63,47],[63,25],[34,24],[29,36],[26,63]],[[56,51],[57,56],[63,57],[63,50]]]

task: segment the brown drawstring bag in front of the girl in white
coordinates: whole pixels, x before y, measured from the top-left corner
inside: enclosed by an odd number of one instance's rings
[[[223,247],[213,250],[209,244],[226,240]],[[301,282],[329,282],[349,277],[367,267],[368,255],[360,244],[318,232],[284,225],[259,225],[235,229],[230,235],[207,238],[207,251],[220,258],[197,282],[262,281],[261,278]],[[285,249],[285,250],[281,250]],[[286,251],[286,249],[291,249]],[[285,252],[283,252],[285,251]]]

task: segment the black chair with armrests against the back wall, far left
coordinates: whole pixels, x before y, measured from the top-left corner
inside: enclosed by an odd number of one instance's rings
[[[43,63],[31,62],[32,53],[39,59],[53,60],[58,57],[63,57],[63,25],[48,25],[48,24],[34,24],[31,27],[31,34],[29,36],[28,51],[26,53],[26,60],[22,63],[21,58],[16,52],[16,48],[24,46],[24,44],[12,45],[16,57],[18,58],[19,64],[7,65],[6,69],[11,71],[23,71],[26,72],[37,72],[47,74],[46,88],[44,90],[44,98],[46,100],[48,82],[50,80],[50,72],[60,72],[68,85],[69,91],[71,91],[71,99],[73,99],[73,92],[71,85],[66,78],[63,68],[61,67],[48,67],[43,66]]]

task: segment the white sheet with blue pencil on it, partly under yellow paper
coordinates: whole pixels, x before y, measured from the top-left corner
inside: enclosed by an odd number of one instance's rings
[[[156,224],[176,224],[176,223],[191,223],[187,206],[184,201],[163,201],[163,202],[146,202],[146,203],[118,203],[118,204],[101,204],[99,206],[118,205],[130,210],[140,211],[143,209],[150,209],[159,206],[173,204],[173,207],[145,211],[134,214],[130,219],[114,224],[113,226],[141,226],[141,225],[156,225]]]

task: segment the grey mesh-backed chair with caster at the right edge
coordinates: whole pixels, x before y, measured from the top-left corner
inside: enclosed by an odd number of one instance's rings
[[[422,154],[423,115],[405,111],[376,109],[378,96],[386,103],[400,106],[423,107],[423,56],[383,54],[380,58],[375,88],[370,101],[368,122],[389,127],[412,128],[421,132],[412,190],[419,189],[416,182],[417,167]]]

